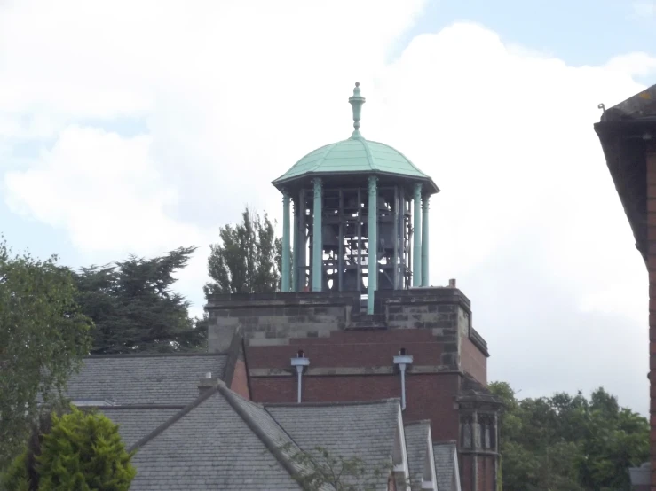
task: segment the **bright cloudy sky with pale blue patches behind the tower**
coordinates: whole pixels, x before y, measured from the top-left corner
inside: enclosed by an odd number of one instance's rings
[[[431,284],[457,280],[518,396],[647,414],[647,276],[594,122],[656,83],[656,2],[0,0],[0,232],[73,267],[209,244],[360,131],[431,175]]]

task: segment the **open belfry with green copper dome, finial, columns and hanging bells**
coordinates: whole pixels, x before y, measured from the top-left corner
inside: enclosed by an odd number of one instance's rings
[[[375,292],[429,286],[429,199],[439,192],[405,155],[365,139],[356,82],[353,132],[273,181],[282,193],[282,292]],[[290,203],[293,217],[290,217]]]

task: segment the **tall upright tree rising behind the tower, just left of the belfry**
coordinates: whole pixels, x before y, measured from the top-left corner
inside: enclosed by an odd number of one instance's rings
[[[247,207],[241,223],[219,230],[220,242],[210,246],[208,269],[212,281],[205,295],[214,293],[275,292],[281,280],[281,239],[265,213],[261,218]]]

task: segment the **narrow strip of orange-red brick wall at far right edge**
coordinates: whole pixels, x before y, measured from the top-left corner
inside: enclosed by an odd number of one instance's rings
[[[649,239],[649,379],[652,491],[656,490],[656,145],[647,149],[647,238]]]

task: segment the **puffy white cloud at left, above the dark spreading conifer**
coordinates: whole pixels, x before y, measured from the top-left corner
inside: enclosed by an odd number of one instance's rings
[[[178,192],[155,168],[150,145],[150,136],[67,127],[31,168],[5,175],[7,199],[16,212],[68,230],[83,251],[154,253],[194,240],[194,226],[171,217]]]

